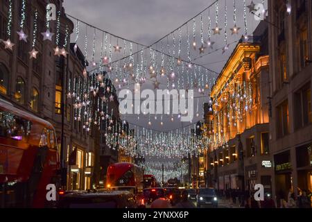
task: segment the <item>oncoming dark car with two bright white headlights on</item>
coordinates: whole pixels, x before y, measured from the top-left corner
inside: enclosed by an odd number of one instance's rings
[[[200,188],[198,189],[198,195],[196,196],[197,207],[211,206],[218,207],[218,198],[216,196],[216,190],[214,188]]]

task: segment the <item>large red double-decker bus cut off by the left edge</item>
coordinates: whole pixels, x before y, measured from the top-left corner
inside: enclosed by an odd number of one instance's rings
[[[51,207],[46,187],[60,177],[51,123],[0,99],[0,207]]]

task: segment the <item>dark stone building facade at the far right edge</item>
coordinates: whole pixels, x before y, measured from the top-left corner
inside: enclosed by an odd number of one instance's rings
[[[312,189],[312,2],[268,1],[270,147],[279,204],[291,189]],[[282,6],[282,7],[281,7]]]

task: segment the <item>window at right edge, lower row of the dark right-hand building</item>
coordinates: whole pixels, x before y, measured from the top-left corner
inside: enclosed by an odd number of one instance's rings
[[[310,83],[302,87],[294,96],[295,129],[312,123]]]

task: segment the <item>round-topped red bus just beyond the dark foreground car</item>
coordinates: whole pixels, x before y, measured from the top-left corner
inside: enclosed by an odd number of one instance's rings
[[[136,187],[143,189],[143,170],[136,164],[119,162],[107,168],[107,187]]]

